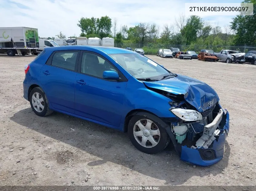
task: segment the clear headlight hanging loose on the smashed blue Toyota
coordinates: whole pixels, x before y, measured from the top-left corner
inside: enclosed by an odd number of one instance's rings
[[[199,121],[202,120],[202,115],[198,111],[195,110],[187,110],[176,108],[171,110],[178,118],[184,121]]]

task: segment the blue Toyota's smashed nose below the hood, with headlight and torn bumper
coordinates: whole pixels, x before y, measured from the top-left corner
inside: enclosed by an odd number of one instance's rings
[[[223,158],[229,113],[219,103],[201,113],[193,109],[185,102],[170,108],[180,119],[170,124],[171,132],[181,160],[208,166]]]

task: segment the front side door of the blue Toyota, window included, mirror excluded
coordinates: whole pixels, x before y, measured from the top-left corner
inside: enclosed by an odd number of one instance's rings
[[[106,70],[118,72],[120,79],[104,79]],[[103,56],[84,51],[75,81],[75,114],[118,127],[127,83],[121,72]]]

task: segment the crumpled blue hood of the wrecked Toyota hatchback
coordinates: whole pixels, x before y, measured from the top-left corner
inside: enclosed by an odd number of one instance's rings
[[[161,81],[145,81],[144,84],[149,88],[159,89],[171,94],[183,94],[185,100],[199,112],[207,110],[210,101],[214,105],[219,100],[217,93],[209,85],[183,75]]]

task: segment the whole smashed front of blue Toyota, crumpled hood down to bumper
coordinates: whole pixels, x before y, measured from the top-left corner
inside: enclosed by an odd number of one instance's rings
[[[176,78],[182,82],[188,79]],[[172,86],[168,88],[145,82],[147,88],[171,99],[169,110],[176,117],[161,119],[167,124],[165,129],[175,150],[183,161],[201,166],[217,163],[224,154],[229,113],[221,107],[218,95],[207,84],[190,80],[190,85],[178,88],[176,80],[170,80]],[[181,87],[186,93],[181,93]]]

